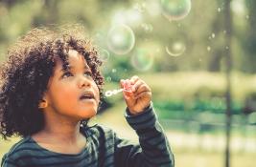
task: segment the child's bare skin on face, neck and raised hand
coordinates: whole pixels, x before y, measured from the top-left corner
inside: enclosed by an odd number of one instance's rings
[[[86,147],[86,138],[80,133],[80,121],[97,114],[100,94],[81,54],[70,50],[68,62],[72,68],[64,72],[62,62],[57,60],[41,102],[44,105],[39,104],[43,109],[45,125],[32,137],[38,145],[50,151],[79,154]],[[123,92],[128,110],[130,115],[139,115],[151,103],[151,89],[138,76],[132,76],[126,82],[132,85],[132,92]],[[120,84],[123,87],[124,80]],[[84,92],[90,92],[94,98],[81,100]]]

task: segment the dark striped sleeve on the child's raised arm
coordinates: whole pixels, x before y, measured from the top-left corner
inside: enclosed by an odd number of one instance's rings
[[[174,167],[174,155],[152,105],[140,115],[129,115],[127,109],[126,118],[139,136],[140,144],[136,147],[117,139],[116,166]]]

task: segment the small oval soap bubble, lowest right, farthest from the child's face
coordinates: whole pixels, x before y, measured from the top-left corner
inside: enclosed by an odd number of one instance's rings
[[[166,46],[165,51],[171,56],[179,56],[185,52],[186,47],[182,42],[175,42],[172,45]]]

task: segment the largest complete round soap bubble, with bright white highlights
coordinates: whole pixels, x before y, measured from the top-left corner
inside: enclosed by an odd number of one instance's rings
[[[124,24],[117,25],[107,33],[107,47],[116,54],[126,54],[135,44],[133,31]]]

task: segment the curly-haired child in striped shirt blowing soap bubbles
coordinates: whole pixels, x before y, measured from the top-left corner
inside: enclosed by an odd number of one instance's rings
[[[122,80],[126,118],[138,145],[103,126],[87,126],[103,97],[102,62],[81,28],[34,29],[20,38],[1,67],[1,135],[23,138],[2,167],[174,166],[156,120],[151,89],[138,76]]]

